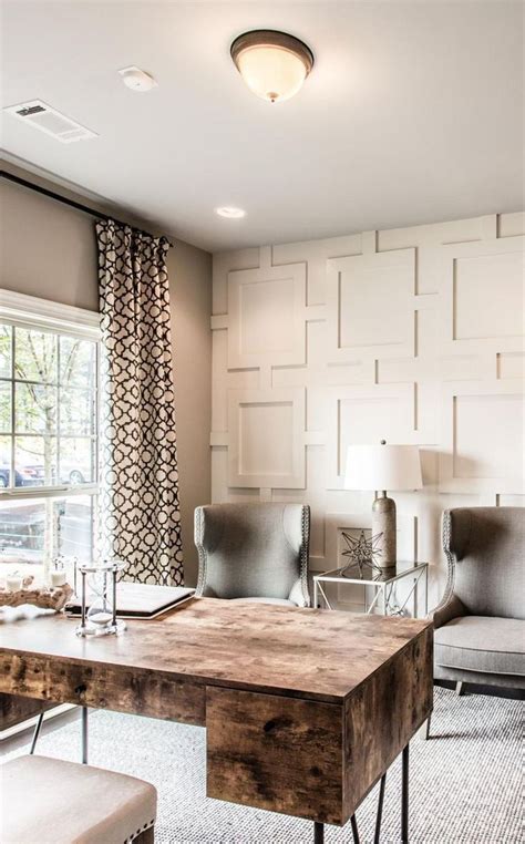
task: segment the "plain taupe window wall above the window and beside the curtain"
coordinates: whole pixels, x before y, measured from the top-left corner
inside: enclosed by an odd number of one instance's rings
[[[13,173],[47,184],[8,165]],[[93,218],[19,185],[1,181],[0,287],[28,296],[97,310]],[[82,197],[74,197],[85,202]],[[93,203],[86,203],[95,207]],[[107,206],[103,206],[107,210]],[[124,214],[132,224],[140,224]],[[147,226],[145,226],[147,228]],[[171,238],[168,254],[175,360],[177,442],[185,575],[195,584],[197,557],[193,512],[210,500],[212,256]]]

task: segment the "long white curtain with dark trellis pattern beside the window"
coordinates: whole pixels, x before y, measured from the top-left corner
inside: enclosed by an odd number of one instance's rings
[[[126,580],[181,585],[168,243],[97,222],[102,327],[99,541]]]

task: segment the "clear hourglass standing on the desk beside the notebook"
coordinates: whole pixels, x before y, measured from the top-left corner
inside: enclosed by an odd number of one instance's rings
[[[116,617],[116,578],[124,566],[122,559],[80,564],[82,616],[78,636],[109,636],[126,629]]]

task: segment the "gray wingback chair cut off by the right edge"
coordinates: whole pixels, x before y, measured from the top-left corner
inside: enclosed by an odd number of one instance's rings
[[[434,620],[434,677],[525,689],[525,510],[443,513],[449,581]]]

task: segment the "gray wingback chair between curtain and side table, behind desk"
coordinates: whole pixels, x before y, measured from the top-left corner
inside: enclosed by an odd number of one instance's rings
[[[302,504],[197,507],[196,595],[309,607],[309,539]]]

